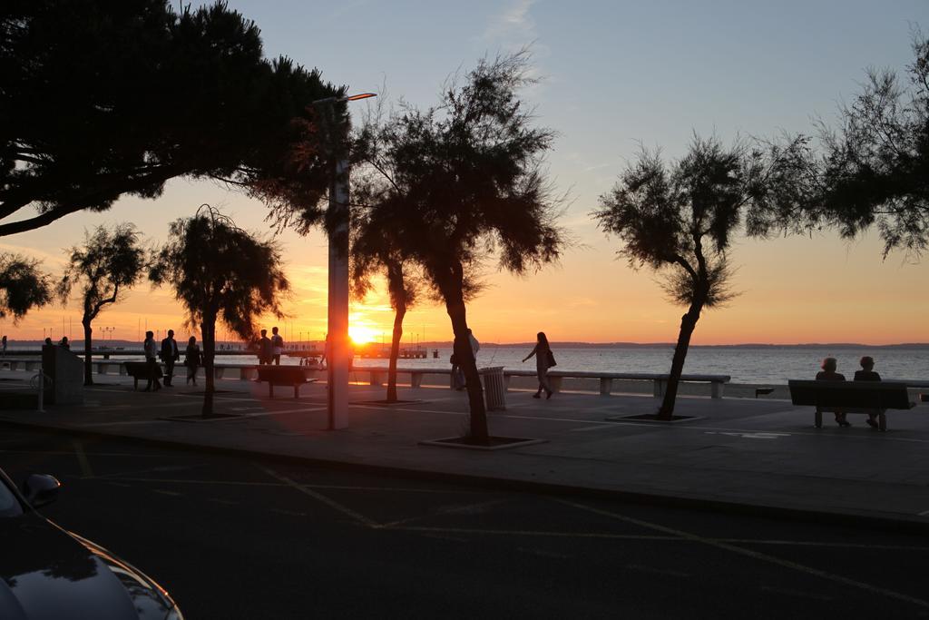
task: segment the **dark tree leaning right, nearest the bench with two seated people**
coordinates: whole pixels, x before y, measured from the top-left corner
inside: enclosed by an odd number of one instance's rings
[[[641,152],[613,190],[600,197],[594,216],[601,229],[622,241],[620,256],[633,269],[648,267],[664,274],[668,296],[687,307],[660,419],[674,415],[700,312],[733,297],[726,253],[742,218],[795,199],[795,170],[782,154],[744,144],[726,149],[718,139],[695,137],[684,158],[670,166],[659,152]]]

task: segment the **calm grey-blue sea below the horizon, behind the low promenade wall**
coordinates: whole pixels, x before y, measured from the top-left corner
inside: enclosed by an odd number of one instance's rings
[[[522,363],[530,349],[512,346],[486,346],[478,352],[478,367],[504,366],[506,369],[534,370],[533,360]],[[673,347],[615,347],[554,349],[556,369],[564,371],[666,373],[671,367]],[[449,368],[451,348],[439,348],[438,358],[432,349],[425,360],[400,360],[401,368]],[[786,384],[788,379],[812,378],[819,370],[822,358],[831,356],[839,361],[839,372],[849,379],[859,368],[862,355],[870,355],[874,369],[885,379],[929,380],[929,347],[861,347],[797,348],[797,347],[691,347],[687,353],[686,373],[729,375],[735,383]],[[128,359],[128,358],[121,358]],[[219,363],[255,363],[252,355],[229,355]],[[296,364],[298,358],[281,356],[281,363]],[[356,358],[355,365],[385,366],[386,360]]]

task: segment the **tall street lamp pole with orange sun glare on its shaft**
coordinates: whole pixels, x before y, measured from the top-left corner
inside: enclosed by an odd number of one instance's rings
[[[329,97],[314,101],[328,106],[341,101],[356,101],[376,97],[361,93],[347,97]],[[329,116],[334,120],[334,114]],[[330,127],[333,129],[333,127]],[[328,389],[328,429],[348,428],[348,368],[351,348],[348,346],[348,231],[351,210],[348,208],[348,159],[340,152],[335,159],[332,185],[329,191],[329,212],[334,221],[329,235],[329,353],[326,363]]]

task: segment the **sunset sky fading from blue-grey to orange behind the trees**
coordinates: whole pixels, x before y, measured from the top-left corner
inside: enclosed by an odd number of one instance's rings
[[[590,218],[640,144],[684,152],[693,132],[771,136],[812,130],[812,117],[833,118],[869,66],[902,70],[912,58],[910,27],[929,29],[925,0],[761,0],[626,2],[610,0],[230,0],[255,20],[268,57],[287,55],[351,92],[381,92],[386,103],[428,106],[446,78],[484,55],[530,45],[543,82],[525,93],[538,123],[558,132],[548,165],[567,191],[563,224],[579,244],[556,267],[519,279],[491,270],[491,286],[470,304],[481,340],[526,342],[537,331],[556,341],[669,342],[682,310],[669,303],[648,270],[617,260],[615,239]],[[183,105],[183,101],[178,101]],[[363,112],[364,104],[355,104]],[[168,112],[166,112],[168,113]],[[132,221],[150,244],[164,241],[171,220],[198,205],[221,207],[240,226],[270,234],[262,204],[211,182],[177,179],[155,201],[126,198],[111,211],[78,214],[46,228],[4,237],[0,249],[44,260],[60,275],[64,248],[85,229]],[[288,339],[325,333],[326,240],[281,234],[294,295]],[[704,314],[695,344],[741,342],[929,342],[929,258],[882,260],[870,234],[848,244],[825,231],[812,237],[740,239],[732,250],[741,296]],[[13,339],[56,339],[71,321],[80,338],[79,305],[0,322]],[[63,321],[62,321],[63,320]],[[137,338],[138,328],[181,328],[168,289],[140,285],[105,310],[100,328]],[[383,292],[352,306],[356,333],[389,338],[392,312]],[[443,308],[424,303],[407,315],[415,339],[451,339]]]

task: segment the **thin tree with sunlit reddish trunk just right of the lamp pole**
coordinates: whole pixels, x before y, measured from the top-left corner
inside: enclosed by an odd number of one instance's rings
[[[394,310],[386,402],[397,402],[397,360],[403,339],[403,317],[417,300],[420,279],[412,272],[415,264],[402,254],[403,244],[377,215],[373,211],[353,220],[351,279],[356,296],[363,298],[372,288],[373,275],[386,276],[390,307]]]

